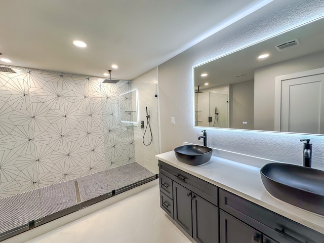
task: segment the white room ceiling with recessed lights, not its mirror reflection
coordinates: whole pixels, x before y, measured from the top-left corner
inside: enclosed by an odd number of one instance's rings
[[[117,64],[112,77],[132,80],[269,2],[7,0],[0,53],[14,66],[94,76]]]

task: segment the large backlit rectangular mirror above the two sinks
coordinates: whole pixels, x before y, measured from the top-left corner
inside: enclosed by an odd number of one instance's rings
[[[195,126],[324,134],[323,81],[320,19],[194,67]]]

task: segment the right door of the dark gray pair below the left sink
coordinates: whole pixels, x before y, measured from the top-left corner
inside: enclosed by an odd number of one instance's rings
[[[192,194],[192,237],[199,243],[218,243],[218,208]]]

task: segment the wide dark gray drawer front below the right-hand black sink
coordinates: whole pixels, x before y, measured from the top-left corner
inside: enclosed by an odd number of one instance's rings
[[[324,243],[323,234],[221,188],[219,208],[280,243]]]

